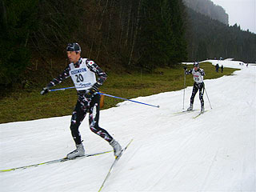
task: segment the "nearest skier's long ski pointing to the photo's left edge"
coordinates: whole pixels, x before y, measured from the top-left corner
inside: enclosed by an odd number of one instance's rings
[[[10,169],[7,169],[7,170],[0,170],[0,172],[7,172],[7,171],[11,171],[11,170],[24,170],[24,169],[29,168],[29,167],[48,165],[48,164],[53,164],[53,163],[57,163],[57,162],[66,162],[66,161],[70,161],[70,160],[74,160],[74,159],[78,159],[78,158],[88,158],[88,157],[96,156],[96,155],[99,155],[99,154],[107,154],[107,153],[110,153],[112,151],[113,150],[108,150],[108,151],[99,152],[99,153],[95,153],[95,154],[85,154],[84,156],[76,157],[76,158],[59,158],[59,159],[51,160],[49,162],[40,162],[40,163],[29,165],[29,166],[20,166],[20,167],[10,168]]]

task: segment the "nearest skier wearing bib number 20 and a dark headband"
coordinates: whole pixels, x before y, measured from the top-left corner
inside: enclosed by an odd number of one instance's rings
[[[121,154],[122,147],[106,130],[98,126],[101,96],[97,92],[98,87],[102,86],[102,83],[106,80],[106,73],[92,60],[81,57],[81,47],[76,42],[67,45],[66,54],[70,60],[70,64],[66,66],[66,69],[58,78],[54,78],[41,91],[42,95],[46,94],[49,92],[50,87],[56,86],[64,79],[71,77],[78,92],[78,101],[74,108],[70,124],[76,150],[67,154],[66,157],[75,158],[85,154],[78,128],[82,120],[86,117],[87,112],[89,112],[90,130],[109,142],[110,146],[114,148],[114,155],[117,157]],[[96,80],[96,74],[98,75],[98,80]]]

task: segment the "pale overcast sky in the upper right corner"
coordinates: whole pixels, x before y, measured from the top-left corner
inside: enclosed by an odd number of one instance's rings
[[[222,6],[229,15],[229,24],[235,23],[242,30],[250,30],[256,34],[256,0],[211,0],[215,5]]]

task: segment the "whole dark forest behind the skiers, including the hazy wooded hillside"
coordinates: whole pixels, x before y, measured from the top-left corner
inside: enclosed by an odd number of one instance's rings
[[[206,58],[255,62],[256,34],[199,14],[182,0],[0,3],[1,89],[63,69],[68,42],[78,42],[83,57],[117,73]]]

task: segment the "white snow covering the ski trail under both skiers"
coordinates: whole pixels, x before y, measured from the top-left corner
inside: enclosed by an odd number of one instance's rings
[[[219,61],[218,61],[219,62]],[[182,111],[184,90],[134,98],[101,111],[100,125],[125,146],[102,191],[255,191],[256,66],[222,61],[240,68],[234,75],[205,80],[207,112]],[[214,63],[213,63],[214,64]],[[220,65],[221,66],[221,65]],[[192,78],[192,77],[190,77]],[[186,88],[186,108],[192,87]],[[63,158],[74,150],[70,116],[0,124],[0,170]],[[90,132],[80,132],[87,153],[111,150]],[[98,191],[114,154],[0,172],[2,192]]]

